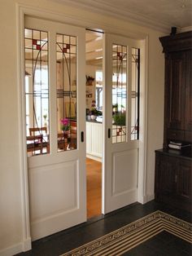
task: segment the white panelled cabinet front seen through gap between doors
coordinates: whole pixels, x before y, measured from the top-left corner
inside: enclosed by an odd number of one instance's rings
[[[86,155],[97,161],[101,161],[103,155],[103,124],[98,122],[86,122]]]

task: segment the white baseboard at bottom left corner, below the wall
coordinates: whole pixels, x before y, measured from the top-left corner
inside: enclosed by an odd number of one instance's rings
[[[28,240],[24,241],[23,243],[12,245],[5,249],[1,249],[0,256],[12,256],[15,254],[20,254],[22,252],[25,252],[29,249],[31,249],[31,238],[28,238]]]

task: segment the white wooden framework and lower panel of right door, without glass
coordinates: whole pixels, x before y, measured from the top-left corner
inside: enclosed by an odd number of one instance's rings
[[[104,163],[103,175],[103,214],[117,210],[137,201],[138,140],[131,140],[131,97],[132,97],[132,48],[139,48],[139,42],[116,35],[105,34],[104,42]],[[112,96],[113,45],[127,49],[127,103],[126,103],[126,139],[121,143],[112,143]],[[110,138],[108,130],[110,129]]]

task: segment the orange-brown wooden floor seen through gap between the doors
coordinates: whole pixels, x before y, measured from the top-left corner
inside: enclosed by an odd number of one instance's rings
[[[87,218],[102,214],[102,163],[86,158]]]

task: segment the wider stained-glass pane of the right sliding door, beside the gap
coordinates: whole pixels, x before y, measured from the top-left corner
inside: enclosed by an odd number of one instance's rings
[[[113,45],[112,143],[126,141],[127,46]]]

